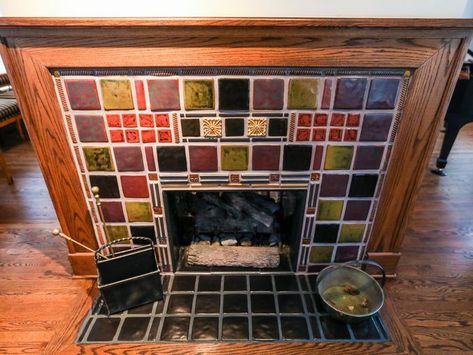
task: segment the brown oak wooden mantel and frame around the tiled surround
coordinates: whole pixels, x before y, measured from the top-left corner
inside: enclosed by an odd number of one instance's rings
[[[1,55],[64,233],[96,248],[51,68],[411,68],[369,256],[395,274],[409,212],[473,33],[472,20],[0,19]],[[93,255],[68,244],[77,276]]]

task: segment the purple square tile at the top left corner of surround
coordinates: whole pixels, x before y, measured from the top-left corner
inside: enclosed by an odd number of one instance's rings
[[[95,80],[65,80],[64,84],[73,110],[100,110]]]

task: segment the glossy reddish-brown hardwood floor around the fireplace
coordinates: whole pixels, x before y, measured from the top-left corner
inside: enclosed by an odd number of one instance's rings
[[[438,148],[439,142],[432,164]],[[0,176],[0,353],[123,353],[117,347],[72,345],[80,314],[95,292],[93,282],[70,277],[64,242],[49,234],[57,221],[31,146],[23,143],[4,151],[15,184],[7,185]],[[390,303],[425,354],[473,353],[473,125],[461,132],[447,171],[448,177],[426,173],[398,278],[387,284]],[[242,346],[232,352],[280,352],[270,348]],[[155,351],[172,354],[177,349],[182,347]],[[293,346],[285,353],[314,350]],[[357,349],[340,346],[338,351]]]

